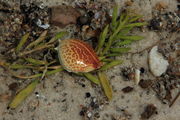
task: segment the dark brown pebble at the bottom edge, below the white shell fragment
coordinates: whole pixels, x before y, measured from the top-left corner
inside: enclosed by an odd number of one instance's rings
[[[157,108],[153,104],[149,104],[146,106],[144,112],[141,114],[141,118],[149,119],[154,114],[157,114]]]

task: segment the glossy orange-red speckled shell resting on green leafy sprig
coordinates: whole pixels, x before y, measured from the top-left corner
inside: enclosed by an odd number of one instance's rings
[[[81,40],[60,41],[58,53],[61,65],[69,72],[90,72],[101,67],[95,51]]]

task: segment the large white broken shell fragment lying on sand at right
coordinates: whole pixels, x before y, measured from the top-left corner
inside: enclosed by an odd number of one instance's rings
[[[149,53],[149,66],[154,76],[161,76],[166,72],[169,63],[158,52],[158,47],[154,46]]]

